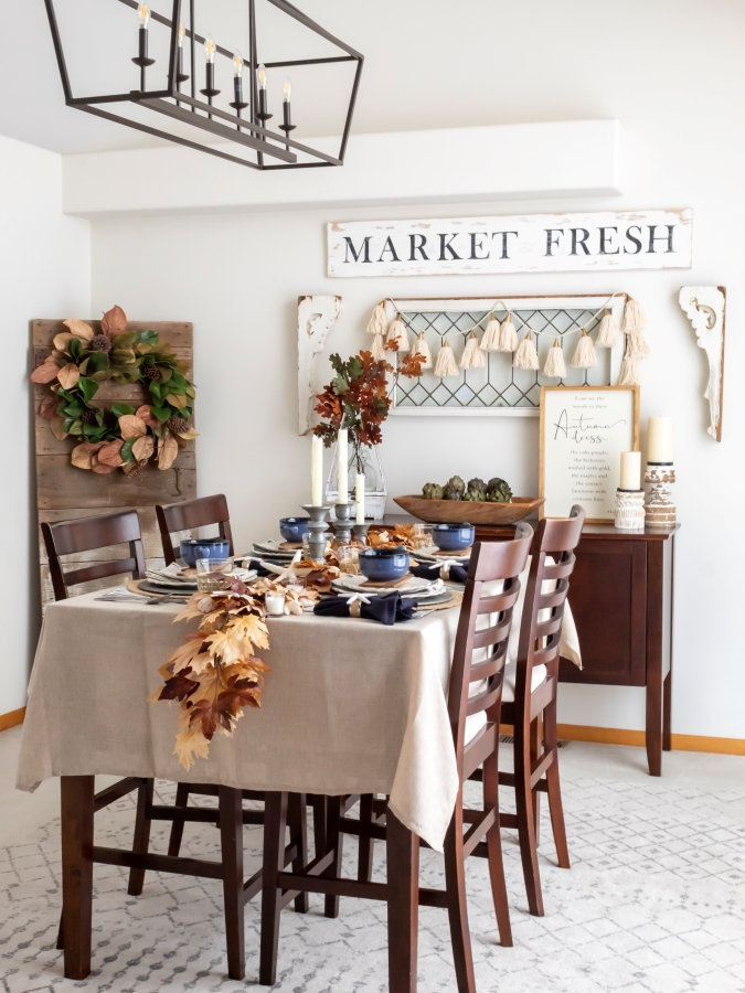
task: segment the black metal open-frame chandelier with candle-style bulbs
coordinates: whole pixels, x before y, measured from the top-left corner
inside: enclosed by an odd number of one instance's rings
[[[148,3],[138,3],[137,0],[110,0],[114,3],[123,3],[137,12],[139,18],[137,55],[129,58],[139,68],[139,88],[126,93],[110,93],[98,96],[75,96],[71,85],[62,33],[55,11],[55,0],[44,0],[49,14],[54,50],[62,77],[62,86],[65,103],[68,107],[76,107],[87,114],[94,114],[106,120],[113,120],[147,135],[175,141],[179,145],[205,151],[221,159],[248,166],[252,169],[302,169],[322,166],[342,166],[349,139],[354,103],[360,85],[363,56],[328,31],[306,17],[287,0],[264,0],[272,4],[288,18],[292,18],[304,28],[313,32],[326,42],[340,49],[344,54],[319,58],[294,58],[281,62],[258,61],[257,32],[256,32],[256,3],[258,0],[247,2],[247,33],[248,58],[245,60],[238,51],[230,51],[216,44],[211,34],[201,35],[196,30],[194,3],[195,0],[173,0],[171,17],[157,13]],[[60,6],[60,0],[57,0]],[[188,22],[182,20],[182,13],[187,13]],[[129,15],[128,15],[129,17]],[[132,21],[134,25],[135,21]],[[151,50],[151,24],[161,25],[170,32],[168,46],[168,77],[166,87],[148,89],[148,74],[152,75],[151,67],[156,60],[149,57]],[[134,31],[131,34],[132,49]],[[198,46],[204,49],[204,65],[198,65]],[[185,52],[184,52],[185,50]],[[216,71],[215,58],[227,60],[231,63],[233,77],[233,99],[226,105],[232,110],[223,109],[215,104],[215,98],[221,90],[217,88],[220,74]],[[322,65],[331,63],[356,63],[351,82],[349,105],[345,109],[344,125],[341,142],[337,154],[329,154],[320,149],[310,148],[291,138],[296,126],[291,117],[291,84],[289,78],[285,81],[283,98],[283,122],[279,130],[273,131],[269,120],[267,98],[267,77],[272,70],[289,68],[291,66]],[[72,61],[71,61],[72,65]],[[220,65],[220,62],[219,62]],[[162,70],[163,66],[161,66]],[[248,74],[248,92],[244,94],[243,74],[244,67]],[[187,72],[189,70],[189,72]],[[121,67],[119,67],[119,72]],[[200,86],[198,75],[202,75],[203,86]],[[132,71],[135,72],[135,71]],[[135,77],[136,78],[136,77]],[[182,88],[189,83],[188,88]],[[230,94],[228,94],[230,95]],[[244,98],[245,96],[245,98]],[[119,105],[119,114],[104,109],[104,106]],[[135,117],[123,116],[125,108],[137,108]],[[148,113],[145,113],[148,111]],[[132,111],[135,113],[135,111]],[[157,114],[168,120],[167,125],[156,127],[152,115]],[[152,121],[152,122],[151,122]],[[196,128],[198,131],[192,129]],[[203,140],[200,131],[206,132]],[[196,137],[194,137],[196,136]],[[216,147],[207,143],[209,138],[222,139],[223,142],[233,142],[235,148]],[[266,160],[269,161],[266,161]]]

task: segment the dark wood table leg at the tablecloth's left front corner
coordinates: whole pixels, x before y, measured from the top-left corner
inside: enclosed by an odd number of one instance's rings
[[[73,980],[91,972],[94,792],[93,776],[61,778],[64,972]]]

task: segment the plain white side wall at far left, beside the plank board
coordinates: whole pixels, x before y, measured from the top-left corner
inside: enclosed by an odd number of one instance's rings
[[[87,221],[62,213],[62,158],[0,137],[0,334],[3,472],[0,517],[0,714],[22,707],[39,632],[36,494],[30,416],[29,321],[85,317],[91,306]]]

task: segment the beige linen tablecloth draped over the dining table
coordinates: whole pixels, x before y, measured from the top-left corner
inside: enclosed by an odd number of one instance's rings
[[[172,623],[175,606],[96,596],[46,610],[19,789],[33,790],[51,776],[108,773],[328,796],[389,793],[396,816],[441,851],[458,790],[447,715],[457,610],[395,627],[312,615],[269,619],[270,651],[263,658],[272,671],[260,709],[247,709],[233,737],[215,736],[210,757],[187,772],[173,755],[178,705],[148,697],[188,624]],[[578,659],[578,645],[566,651],[575,649]]]

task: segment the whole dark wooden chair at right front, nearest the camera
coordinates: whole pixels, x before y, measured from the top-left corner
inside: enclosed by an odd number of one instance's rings
[[[458,620],[447,706],[460,784],[444,846],[446,888],[419,887],[418,903],[448,911],[459,993],[476,991],[466,900],[469,855],[482,855],[489,861],[500,940],[502,944],[512,944],[500,837],[499,725],[512,612],[520,594],[518,577],[525,568],[532,536],[532,528],[520,524],[512,542],[473,546]],[[489,584],[497,583],[499,591],[489,588]],[[462,790],[479,767],[485,772],[483,805],[481,810],[472,810],[464,807]],[[327,900],[329,896],[389,899],[391,888],[396,885],[391,876],[386,884],[372,883],[366,869],[358,874],[366,878],[340,878],[338,842],[344,833],[356,834],[364,841],[386,839],[384,820],[390,814],[385,801],[370,794],[363,798],[368,816],[363,814],[361,819],[344,816],[343,798],[329,798],[326,855],[315,859],[302,874],[285,872],[280,863],[285,848],[286,796],[267,793],[259,963],[259,982],[264,985],[275,982],[280,910],[296,889],[323,893]]]

